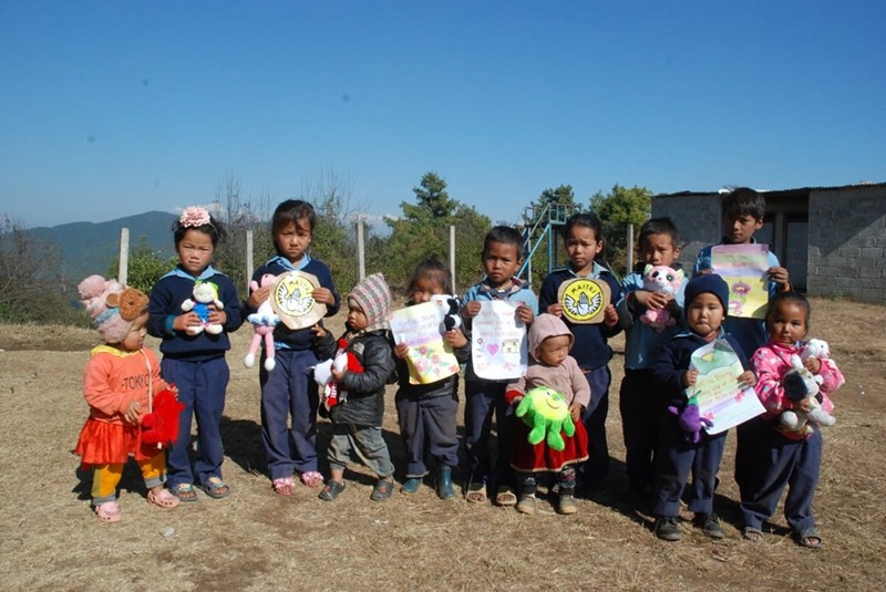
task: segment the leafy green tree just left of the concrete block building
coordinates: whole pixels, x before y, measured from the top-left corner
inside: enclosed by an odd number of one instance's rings
[[[591,209],[602,222],[602,236],[609,253],[609,263],[619,273],[627,271],[628,226],[635,236],[649,219],[652,209],[652,191],[646,187],[627,188],[616,184],[607,195],[597,191],[590,198]],[[631,245],[630,248],[633,248]]]

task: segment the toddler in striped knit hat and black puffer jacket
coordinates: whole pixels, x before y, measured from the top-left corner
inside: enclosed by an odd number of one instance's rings
[[[391,497],[394,466],[388,445],[382,438],[384,417],[384,385],[393,370],[394,359],[389,339],[391,291],[381,273],[361,280],[348,294],[348,321],[344,334],[336,341],[329,332],[317,325],[317,355],[329,360],[339,355],[353,359],[343,370],[332,368],[332,378],[339,397],[329,409],[332,420],[332,439],[327,451],[330,478],[320,499],[333,501],[344,489],[344,467],[357,453],[378,477],[371,499],[384,501]],[[359,368],[359,370],[358,370]]]

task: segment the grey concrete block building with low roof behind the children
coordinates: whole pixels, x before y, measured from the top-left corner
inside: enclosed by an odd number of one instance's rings
[[[761,193],[766,215],[754,237],[787,268],[796,290],[886,303],[886,183]],[[652,198],[652,216],[668,216],[680,229],[680,263],[688,270],[722,237],[721,197],[681,191]]]

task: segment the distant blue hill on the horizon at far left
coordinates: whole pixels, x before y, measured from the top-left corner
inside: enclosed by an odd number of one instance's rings
[[[147,247],[161,257],[175,253],[173,222],[178,218],[166,211],[146,211],[109,222],[71,222],[52,228],[32,228],[35,239],[59,249],[65,280],[76,283],[92,273],[105,276],[120,255],[120,231],[130,229],[130,249]]]

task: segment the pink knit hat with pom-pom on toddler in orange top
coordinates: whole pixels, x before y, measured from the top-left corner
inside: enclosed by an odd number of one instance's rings
[[[147,297],[116,280],[90,276],[78,285],[81,302],[105,343],[120,343],[132,323],[147,310]]]

